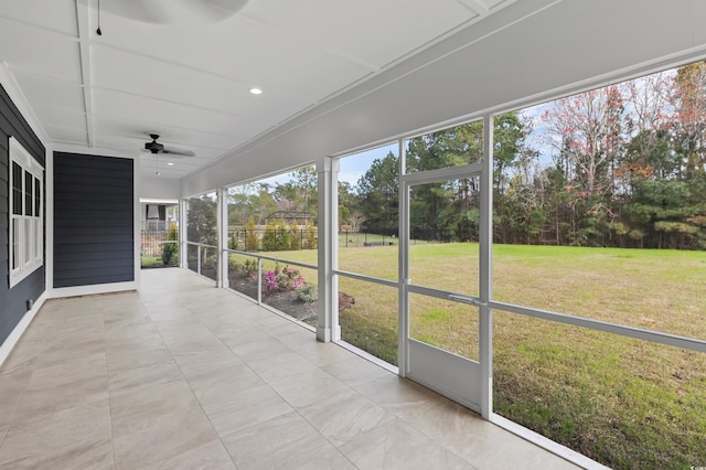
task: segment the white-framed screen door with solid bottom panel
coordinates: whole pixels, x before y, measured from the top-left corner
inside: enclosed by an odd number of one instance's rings
[[[482,171],[400,178],[400,373],[479,413]]]

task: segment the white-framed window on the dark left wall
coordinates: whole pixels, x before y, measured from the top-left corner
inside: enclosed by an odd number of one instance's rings
[[[10,138],[10,287],[44,264],[44,169]]]

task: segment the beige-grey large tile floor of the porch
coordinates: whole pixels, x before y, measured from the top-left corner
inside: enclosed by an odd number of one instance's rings
[[[568,469],[180,269],[47,301],[0,368],[0,469]]]

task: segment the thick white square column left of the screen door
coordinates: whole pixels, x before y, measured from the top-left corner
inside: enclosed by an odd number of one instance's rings
[[[317,162],[319,188],[319,323],[317,340],[322,342],[341,339],[338,322],[339,287],[333,270],[338,268],[339,192],[336,173],[339,161],[322,158]]]

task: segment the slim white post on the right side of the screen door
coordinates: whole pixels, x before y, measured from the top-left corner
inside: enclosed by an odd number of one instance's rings
[[[493,311],[492,248],[493,248],[493,116],[483,118],[483,171],[481,172],[480,201],[480,256],[479,298],[480,309],[480,364],[481,415],[490,419],[493,412]]]

